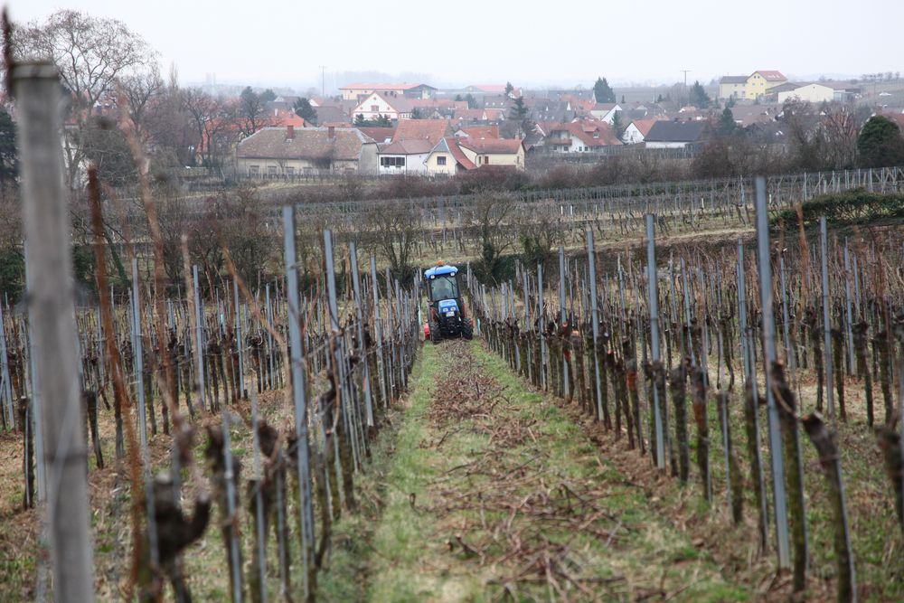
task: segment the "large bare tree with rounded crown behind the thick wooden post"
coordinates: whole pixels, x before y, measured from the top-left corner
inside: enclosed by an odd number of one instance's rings
[[[91,111],[116,89],[118,79],[155,61],[155,52],[137,33],[116,19],[60,10],[46,21],[26,24],[12,40],[17,58],[42,58],[56,63],[70,94],[71,115],[65,137],[66,178],[77,187],[84,159],[80,131]]]

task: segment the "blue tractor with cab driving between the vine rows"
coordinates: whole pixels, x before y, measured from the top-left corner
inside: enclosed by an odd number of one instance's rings
[[[465,314],[465,300],[458,286],[458,269],[438,261],[424,272],[429,311],[424,337],[434,344],[453,337],[474,337],[474,326]]]

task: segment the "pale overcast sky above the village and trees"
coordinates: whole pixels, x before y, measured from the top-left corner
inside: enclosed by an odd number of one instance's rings
[[[777,69],[800,79],[904,71],[899,0],[9,0],[16,21],[58,8],[114,17],[183,84],[326,87],[381,71],[439,85],[673,83]]]

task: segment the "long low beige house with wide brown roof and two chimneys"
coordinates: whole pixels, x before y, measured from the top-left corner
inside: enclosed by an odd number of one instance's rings
[[[376,174],[377,144],[354,127],[264,127],[239,143],[235,163],[248,178]]]

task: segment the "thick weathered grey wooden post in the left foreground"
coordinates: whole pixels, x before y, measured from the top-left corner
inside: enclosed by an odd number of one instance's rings
[[[76,356],[69,211],[62,184],[60,80],[47,62],[15,65],[29,323],[42,400],[53,590],[57,601],[94,600],[88,479]]]

